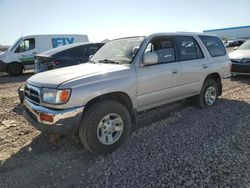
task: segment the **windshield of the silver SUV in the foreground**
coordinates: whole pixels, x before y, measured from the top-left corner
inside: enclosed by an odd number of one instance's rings
[[[90,61],[95,63],[130,64],[145,37],[117,39],[105,44]]]

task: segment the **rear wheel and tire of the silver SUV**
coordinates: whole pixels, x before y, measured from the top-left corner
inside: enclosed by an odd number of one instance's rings
[[[212,91],[211,96],[214,98],[212,100],[206,100],[209,98],[209,95],[206,97],[207,92]],[[194,97],[193,104],[198,108],[206,108],[213,106],[217,99],[218,99],[218,93],[219,93],[219,86],[218,83],[213,79],[207,79],[205,80],[201,93]]]

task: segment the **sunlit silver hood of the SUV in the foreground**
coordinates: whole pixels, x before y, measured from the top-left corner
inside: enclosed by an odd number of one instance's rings
[[[88,78],[128,68],[128,65],[84,63],[35,74],[27,80],[27,83],[38,87],[55,88],[64,82],[69,82],[70,80]]]

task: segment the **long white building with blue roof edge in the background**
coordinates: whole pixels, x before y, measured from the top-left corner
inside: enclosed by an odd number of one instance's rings
[[[222,39],[250,38],[250,25],[241,27],[229,27],[223,29],[204,30],[203,33],[217,35]]]

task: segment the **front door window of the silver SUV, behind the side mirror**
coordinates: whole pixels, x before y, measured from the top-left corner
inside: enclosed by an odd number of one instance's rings
[[[174,62],[175,49],[170,37],[156,37],[148,44],[144,53],[156,53],[158,64]]]

